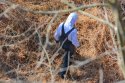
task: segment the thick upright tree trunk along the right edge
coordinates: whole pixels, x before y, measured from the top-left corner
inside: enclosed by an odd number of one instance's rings
[[[120,16],[120,6],[117,0],[109,0],[110,5],[112,6],[112,11],[115,17],[115,24],[117,27],[117,39],[118,39],[118,64],[122,70],[123,76],[125,78],[125,50],[122,50],[122,47],[125,45],[125,29],[124,23],[121,21]]]

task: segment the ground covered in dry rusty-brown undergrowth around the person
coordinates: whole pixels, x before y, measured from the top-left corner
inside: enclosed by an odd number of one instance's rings
[[[69,8],[59,0],[10,0],[32,10],[60,10]],[[73,0],[69,0],[73,2]],[[103,0],[74,0],[74,4],[100,3]],[[42,2],[42,3],[41,3]],[[9,6],[0,3],[0,12],[3,12]],[[104,8],[94,7],[84,10],[90,14],[105,19]],[[109,21],[113,22],[113,15],[110,9],[107,9]],[[21,80],[43,80],[45,83],[50,81],[49,61],[44,60],[39,65],[42,58],[45,58],[43,48],[39,45],[39,36],[35,33],[38,29],[41,43],[44,45],[49,22],[53,15],[33,14],[26,12],[21,8],[16,8],[8,16],[0,16],[0,79],[9,80],[13,78]],[[53,34],[58,25],[66,20],[69,13],[59,14],[52,23],[49,32],[50,44],[46,47],[46,52],[51,58],[58,49],[53,38]],[[117,63],[116,53],[112,52],[113,41],[111,30],[108,25],[104,25],[90,17],[78,13],[79,19],[76,24],[78,30],[78,39],[80,47],[74,56],[74,62],[93,59],[89,63],[79,68],[70,69],[67,79],[61,79],[55,76],[57,83],[99,83],[100,71],[103,73],[103,83],[114,83],[123,80],[122,73]],[[39,28],[40,27],[40,28]],[[114,35],[115,37],[115,35]],[[52,44],[51,44],[52,43]],[[107,53],[108,52],[108,53]],[[110,53],[111,52],[111,53]],[[53,68],[59,68],[61,57],[64,53],[60,50],[52,64]],[[95,59],[94,59],[95,58]],[[96,59],[97,58],[97,59]],[[10,71],[12,70],[12,72]],[[10,71],[10,72],[9,72]],[[9,73],[7,73],[9,72]]]

